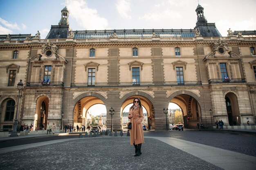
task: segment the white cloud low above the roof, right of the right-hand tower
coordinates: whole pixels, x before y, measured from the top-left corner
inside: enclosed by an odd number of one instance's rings
[[[256,27],[256,23],[254,18],[236,22],[233,22],[231,20],[219,20],[218,22],[216,22],[216,27],[220,31],[220,34],[223,37],[226,37],[227,30],[229,28],[232,31],[254,30]]]

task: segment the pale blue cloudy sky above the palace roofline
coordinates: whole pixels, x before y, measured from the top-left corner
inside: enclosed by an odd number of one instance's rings
[[[256,0],[199,0],[208,23],[227,30],[256,29]],[[198,0],[0,0],[0,34],[41,39],[58,25],[67,5],[73,31],[104,29],[193,29]]]

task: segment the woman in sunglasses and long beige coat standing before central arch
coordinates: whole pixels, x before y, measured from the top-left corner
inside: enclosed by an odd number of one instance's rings
[[[141,122],[143,121],[143,109],[140,99],[135,97],[130,107],[128,118],[132,123],[130,130],[130,144],[135,147],[135,157],[141,155],[141,144],[144,143],[144,135]]]

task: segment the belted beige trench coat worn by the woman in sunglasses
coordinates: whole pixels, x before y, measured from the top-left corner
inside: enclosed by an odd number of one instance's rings
[[[144,143],[144,135],[141,122],[143,121],[143,110],[137,108],[135,110],[130,109],[129,115],[132,115],[130,122],[132,122],[132,129],[130,130],[130,144],[137,145]]]

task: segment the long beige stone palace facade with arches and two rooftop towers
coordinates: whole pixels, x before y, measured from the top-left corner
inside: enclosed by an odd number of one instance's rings
[[[182,109],[186,128],[197,122],[212,128],[216,120],[254,125],[255,31],[222,37],[203,7],[196,13],[195,29],[72,31],[65,7],[44,40],[0,35],[0,130],[12,129],[16,113],[18,126],[33,124],[34,130],[47,121],[58,128],[82,123],[94,104],[112,107],[113,130],[120,130],[121,113],[134,97],[155,130],[166,128],[169,102]]]

